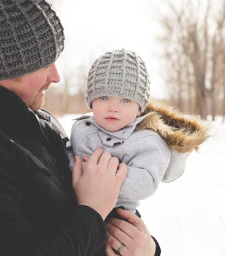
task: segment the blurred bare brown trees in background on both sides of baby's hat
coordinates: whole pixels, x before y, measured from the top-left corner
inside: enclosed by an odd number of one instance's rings
[[[63,9],[60,0],[52,2]],[[163,100],[184,113],[199,114],[202,118],[225,116],[225,0],[163,2],[166,12],[156,7],[161,31],[157,41],[160,58],[159,55],[157,58],[160,76],[168,90]],[[60,86],[49,89],[44,107],[60,115],[90,111],[84,100],[84,86],[92,62],[82,62],[74,68],[64,57]]]

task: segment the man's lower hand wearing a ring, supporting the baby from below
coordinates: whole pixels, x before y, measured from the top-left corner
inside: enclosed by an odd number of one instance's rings
[[[113,249],[118,250],[121,244],[124,244],[120,255],[153,256],[156,251],[156,244],[151,238],[143,220],[128,210],[118,209],[117,212],[120,217],[127,219],[128,222],[111,218],[106,223],[106,255],[116,255]]]

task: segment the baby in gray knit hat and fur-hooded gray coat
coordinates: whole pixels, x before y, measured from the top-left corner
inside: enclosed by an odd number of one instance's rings
[[[135,52],[114,50],[97,58],[85,89],[93,116],[76,119],[67,144],[71,168],[74,155],[89,157],[99,146],[127,164],[115,208],[137,215],[139,201],[151,196],[161,181],[180,177],[188,155],[207,138],[202,122],[149,103],[149,89],[148,71]]]

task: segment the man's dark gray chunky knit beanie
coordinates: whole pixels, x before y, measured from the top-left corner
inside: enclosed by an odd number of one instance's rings
[[[63,48],[63,26],[48,0],[0,0],[0,80],[50,65]]]

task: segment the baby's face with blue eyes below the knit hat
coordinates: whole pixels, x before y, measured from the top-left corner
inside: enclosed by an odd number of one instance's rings
[[[141,111],[138,103],[127,98],[103,96],[92,102],[95,122],[111,132],[135,121]]]

